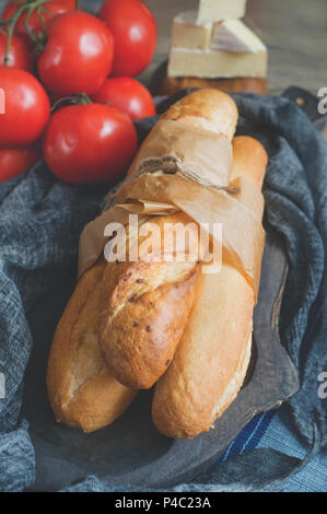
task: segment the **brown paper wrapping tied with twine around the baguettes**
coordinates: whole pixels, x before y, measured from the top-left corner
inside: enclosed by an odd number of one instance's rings
[[[162,120],[143,142],[127,178],[80,240],[79,277],[101,256],[109,223],[184,211],[199,225],[223,227],[223,262],[235,267],[257,297],[265,246],[264,198],[249,180],[229,183],[232,145],[222,135]],[[249,244],[253,242],[253,244]]]

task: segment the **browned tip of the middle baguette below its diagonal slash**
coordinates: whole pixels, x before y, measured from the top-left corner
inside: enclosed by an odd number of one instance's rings
[[[102,348],[115,377],[148,389],[171,364],[192,305],[198,268],[182,282],[161,285],[105,316]]]

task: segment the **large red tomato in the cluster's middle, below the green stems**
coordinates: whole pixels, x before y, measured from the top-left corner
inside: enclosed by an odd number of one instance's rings
[[[113,36],[97,17],[85,12],[52,19],[48,42],[38,59],[45,86],[57,95],[92,95],[112,72]]]

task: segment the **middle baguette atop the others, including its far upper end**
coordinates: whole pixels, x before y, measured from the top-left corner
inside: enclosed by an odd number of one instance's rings
[[[200,90],[174,104],[162,119],[178,120],[232,140],[237,107],[218,90]],[[187,224],[191,220],[179,212],[150,221],[163,235],[168,223]],[[166,371],[187,324],[198,278],[197,260],[108,262],[100,342],[108,367],[121,384],[147,389]]]

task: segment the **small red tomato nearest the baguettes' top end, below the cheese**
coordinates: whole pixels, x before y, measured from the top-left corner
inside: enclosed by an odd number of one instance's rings
[[[98,104],[112,104],[114,107],[125,110],[131,119],[155,115],[151,94],[144,85],[130,77],[107,79],[93,100]]]

